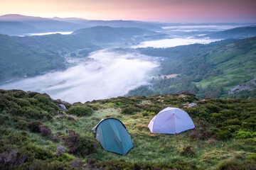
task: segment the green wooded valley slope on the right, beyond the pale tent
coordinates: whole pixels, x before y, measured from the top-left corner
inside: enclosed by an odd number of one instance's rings
[[[178,77],[154,79],[152,89],[140,87],[129,95],[189,91],[201,98],[218,98],[227,96],[233,87],[256,79],[256,38],[139,51],[166,57],[161,62],[160,74],[178,74]]]

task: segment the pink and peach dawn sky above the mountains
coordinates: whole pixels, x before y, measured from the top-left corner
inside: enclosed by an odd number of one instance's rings
[[[0,0],[0,15],[178,23],[256,22],[256,0]]]

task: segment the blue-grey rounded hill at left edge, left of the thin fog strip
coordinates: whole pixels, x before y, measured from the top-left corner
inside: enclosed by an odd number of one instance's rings
[[[38,28],[27,23],[15,21],[0,21],[0,33],[7,35],[23,35],[26,33],[40,33]]]

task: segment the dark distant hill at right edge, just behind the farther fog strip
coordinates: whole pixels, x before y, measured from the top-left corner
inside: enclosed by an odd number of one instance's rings
[[[215,38],[215,39],[218,39],[218,38],[242,39],[242,38],[250,38],[250,37],[255,37],[255,36],[256,36],[256,26],[251,26],[251,27],[240,27],[240,28],[233,28],[230,30],[218,31],[215,33],[210,33],[208,35],[204,35],[203,37]],[[201,38],[202,38],[202,36],[201,36]]]

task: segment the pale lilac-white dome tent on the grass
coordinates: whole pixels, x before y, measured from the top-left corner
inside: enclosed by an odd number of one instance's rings
[[[195,129],[191,117],[179,108],[165,108],[151,119],[151,133],[177,134],[185,130]]]

